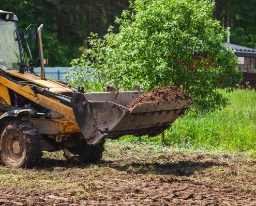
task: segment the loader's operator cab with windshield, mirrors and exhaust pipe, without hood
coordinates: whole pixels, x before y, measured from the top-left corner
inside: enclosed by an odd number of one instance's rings
[[[32,61],[31,49],[27,39],[30,37],[32,44],[36,42],[35,27],[31,24],[25,30],[22,30],[18,28],[16,21],[18,21],[18,18],[12,12],[0,10],[0,69],[7,70],[7,72],[19,70],[20,73],[24,74],[25,71],[34,73],[34,67],[43,66],[42,79],[45,79],[44,64],[48,64],[48,61],[42,58],[43,63],[41,64],[41,56],[43,55],[40,54],[40,59],[37,59],[36,63],[29,62],[27,64],[22,46],[22,42],[24,42],[27,47],[27,55]],[[42,25],[40,27],[42,28]],[[23,37],[22,40],[21,37]],[[42,47],[42,44],[40,46]]]

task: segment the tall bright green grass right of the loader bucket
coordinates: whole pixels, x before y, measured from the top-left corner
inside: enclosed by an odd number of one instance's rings
[[[256,155],[256,92],[221,91],[230,99],[226,108],[204,114],[187,111],[164,132],[164,143],[180,148],[250,151]],[[127,136],[121,141],[161,144],[162,136],[141,139]]]

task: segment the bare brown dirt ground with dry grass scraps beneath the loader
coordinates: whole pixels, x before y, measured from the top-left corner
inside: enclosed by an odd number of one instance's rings
[[[34,169],[0,166],[0,205],[256,205],[256,161],[108,142],[99,164],[54,152]]]

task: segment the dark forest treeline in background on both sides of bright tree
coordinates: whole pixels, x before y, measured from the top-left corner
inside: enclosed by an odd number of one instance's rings
[[[91,32],[100,37],[115,19],[129,9],[128,0],[1,0],[0,10],[14,12],[18,25],[25,29],[33,23],[43,28],[44,56],[51,66],[69,66],[86,47]],[[231,27],[231,43],[256,47],[256,0],[216,0],[213,18]],[[33,59],[38,57],[32,46]]]

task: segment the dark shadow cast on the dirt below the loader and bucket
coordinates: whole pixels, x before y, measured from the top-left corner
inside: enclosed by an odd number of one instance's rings
[[[37,165],[38,169],[53,171],[55,167],[65,168],[81,168],[86,169],[92,164],[76,164],[65,160],[56,160],[50,158],[43,158]],[[195,171],[205,170],[213,166],[227,166],[227,164],[220,164],[214,161],[178,161],[167,163],[137,163],[137,162],[119,162],[119,161],[103,161],[95,163],[99,167],[109,167],[118,171],[126,171],[127,174],[147,174],[153,173],[158,175],[175,175],[175,176],[190,176]]]

